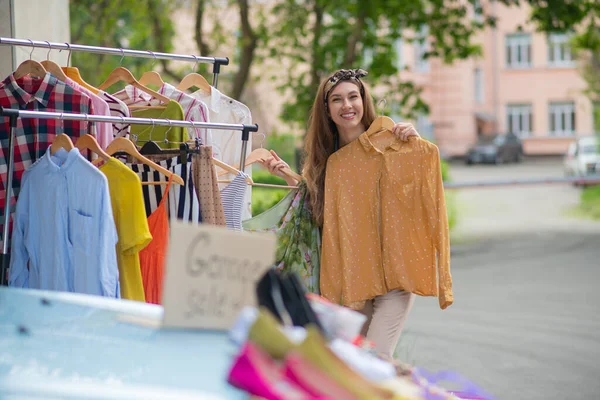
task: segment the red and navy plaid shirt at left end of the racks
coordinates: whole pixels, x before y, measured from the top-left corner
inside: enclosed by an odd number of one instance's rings
[[[0,106],[28,111],[93,114],[92,102],[87,95],[67,86],[50,73],[46,73],[44,79],[24,76],[17,80],[11,74],[0,83]],[[87,125],[85,121],[17,119],[11,215],[15,211],[23,172],[44,155],[56,135],[66,133],[77,138],[85,133],[94,134],[93,124],[90,124],[89,131]],[[0,232],[4,225],[9,129],[9,118],[0,117]]]

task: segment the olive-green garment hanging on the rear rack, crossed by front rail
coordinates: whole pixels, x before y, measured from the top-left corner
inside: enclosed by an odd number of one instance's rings
[[[183,109],[175,100],[169,101],[164,110],[150,108],[147,110],[132,110],[132,117],[136,118],[163,118],[171,121],[184,121]],[[135,135],[135,136],[134,136]],[[179,143],[188,140],[186,128],[180,126],[154,126],[152,125],[131,125],[131,139],[139,146],[143,146],[152,139],[163,149],[178,149]],[[135,138],[137,137],[137,140]],[[165,143],[165,137],[169,143]],[[179,142],[179,143],[172,143]]]

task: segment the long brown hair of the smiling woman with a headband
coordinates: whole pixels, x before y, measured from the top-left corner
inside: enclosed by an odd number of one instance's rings
[[[304,141],[306,157],[304,160],[304,168],[302,170],[302,175],[306,181],[306,187],[309,193],[313,219],[319,226],[323,226],[325,169],[327,167],[327,159],[335,151],[335,138],[338,135],[337,127],[333,123],[331,117],[329,117],[325,104],[324,90],[328,79],[321,82],[317,97],[312,106],[308,132],[306,133]],[[347,80],[346,82],[352,82],[357,86],[359,85],[355,80]],[[363,117],[361,122],[365,129],[368,129],[377,117],[377,114],[375,113],[373,98],[364,84],[362,93]]]

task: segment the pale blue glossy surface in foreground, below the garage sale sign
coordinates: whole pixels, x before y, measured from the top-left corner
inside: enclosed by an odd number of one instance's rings
[[[44,385],[81,383],[247,398],[226,382],[236,348],[225,332],[165,330],[125,321],[131,318],[156,323],[162,307],[0,287],[0,397],[21,398],[19,390],[35,385],[40,395]]]

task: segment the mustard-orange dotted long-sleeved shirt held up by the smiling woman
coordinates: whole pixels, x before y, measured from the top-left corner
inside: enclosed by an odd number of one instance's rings
[[[399,289],[454,301],[438,148],[417,137],[381,151],[366,133],[327,162],[321,294],[353,309]]]

